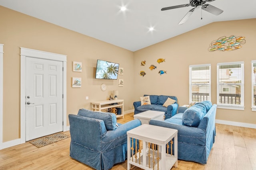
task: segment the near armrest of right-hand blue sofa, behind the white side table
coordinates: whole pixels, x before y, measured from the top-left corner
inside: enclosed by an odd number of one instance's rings
[[[150,125],[167,127],[178,130],[178,142],[191,143],[194,145],[206,145],[206,132],[197,127],[189,127],[186,125],[177,125],[170,122],[150,120]]]

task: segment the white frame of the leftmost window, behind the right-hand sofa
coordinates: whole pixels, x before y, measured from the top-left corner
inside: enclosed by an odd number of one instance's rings
[[[209,83],[203,83],[204,85],[209,85],[209,99],[208,101],[211,101],[211,64],[197,64],[197,65],[190,65],[189,66],[189,102],[193,102],[192,101],[192,77],[191,77],[191,73],[192,73],[192,68],[193,67],[206,67],[209,66],[209,70],[210,70],[210,80]]]

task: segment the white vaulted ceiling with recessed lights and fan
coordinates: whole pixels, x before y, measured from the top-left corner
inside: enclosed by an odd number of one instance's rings
[[[101,41],[137,51],[215,21],[256,18],[256,0],[207,2],[224,12],[215,16],[193,7],[161,11],[189,0],[0,0],[0,5]],[[122,11],[121,7],[126,10]],[[202,17],[202,19],[201,19]],[[154,28],[150,31],[150,27]],[[226,28],[223,28],[226,29]]]

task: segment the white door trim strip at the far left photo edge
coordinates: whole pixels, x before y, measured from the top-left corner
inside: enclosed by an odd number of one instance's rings
[[[4,45],[0,44],[0,150],[3,149],[3,75]]]

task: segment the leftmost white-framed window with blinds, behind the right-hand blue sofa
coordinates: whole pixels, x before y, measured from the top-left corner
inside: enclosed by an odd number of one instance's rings
[[[189,102],[211,101],[211,64],[189,66]]]

